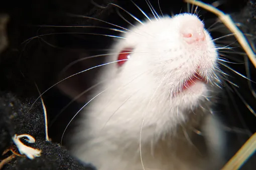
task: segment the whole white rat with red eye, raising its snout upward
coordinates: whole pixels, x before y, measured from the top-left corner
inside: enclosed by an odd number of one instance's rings
[[[218,169],[217,51],[203,22],[183,13],[130,30],[107,58],[127,60],[102,68],[101,93],[83,110],[72,153],[98,170]]]

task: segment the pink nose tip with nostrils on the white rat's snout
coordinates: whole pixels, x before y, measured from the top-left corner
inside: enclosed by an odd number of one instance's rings
[[[200,29],[198,27],[185,28],[181,33],[184,37],[184,40],[189,44],[205,40],[205,34],[203,29]]]

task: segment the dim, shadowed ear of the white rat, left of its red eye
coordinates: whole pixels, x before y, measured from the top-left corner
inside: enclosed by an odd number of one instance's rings
[[[99,65],[102,63],[102,58],[104,57],[93,57],[89,59],[83,59],[88,56],[91,56],[88,51],[84,50],[68,50],[61,53],[65,61],[62,62],[61,68],[59,68],[58,81],[69,77],[73,74],[76,74],[85,69],[91,68],[93,66]],[[67,56],[68,55],[68,56]],[[73,61],[79,60],[78,62],[71,65]],[[69,65],[69,66],[68,66]],[[57,88],[68,95],[69,97],[77,98],[77,102],[84,103],[90,91],[82,94],[86,89],[91,87],[95,82],[96,74],[99,68],[93,68],[88,71],[76,74],[72,77],[65,79],[64,81],[57,84]],[[81,95],[78,97],[78,95]]]

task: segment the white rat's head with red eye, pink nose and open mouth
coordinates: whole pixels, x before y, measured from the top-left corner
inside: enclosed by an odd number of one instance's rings
[[[123,87],[122,97],[137,91],[140,102],[154,98],[159,107],[166,108],[163,104],[168,103],[169,108],[190,109],[211,91],[211,82],[217,78],[217,51],[196,15],[147,20],[131,27],[123,37],[114,45],[116,54],[110,61],[127,60],[109,64],[112,72],[105,71],[113,75],[111,87]]]

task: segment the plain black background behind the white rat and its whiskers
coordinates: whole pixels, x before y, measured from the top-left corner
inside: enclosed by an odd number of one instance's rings
[[[102,49],[109,48],[109,45],[113,42],[113,38],[110,37],[83,33],[116,34],[116,32],[100,28],[42,27],[42,25],[94,25],[112,27],[109,24],[97,20],[68,16],[68,13],[72,13],[95,17],[126,27],[127,23],[116,13],[117,8],[113,5],[107,5],[109,2],[119,4],[140,19],[144,18],[142,13],[136,10],[130,0],[94,1],[101,6],[107,7],[97,7],[90,0],[8,0],[1,2],[0,13],[10,15],[7,29],[9,46],[1,54],[0,58],[1,91],[12,91],[21,98],[37,98],[39,92],[35,83],[42,93],[62,78],[104,61],[103,57],[84,60],[60,74],[61,70],[71,61],[102,53]],[[134,1],[143,10],[150,13],[145,0]],[[151,1],[158,12],[160,12],[158,0]],[[215,0],[203,1],[213,2]],[[179,13],[180,11],[186,11],[187,8],[187,4],[183,3],[182,0],[160,0],[160,5],[162,11],[166,14],[171,14],[171,12]],[[241,23],[242,26],[240,28],[244,32],[255,34],[256,7],[254,0],[224,0],[223,4],[219,6],[219,9],[230,13],[235,21]],[[125,12],[120,12],[123,16],[127,17]],[[204,9],[201,9],[200,12],[202,12],[200,14],[202,14],[203,19],[207,21],[206,26],[211,25],[215,21],[216,16],[214,14]],[[129,20],[133,21],[131,18]],[[24,42],[31,37],[48,33],[51,34]],[[212,32],[212,36],[218,37],[227,33],[228,30],[222,27],[219,31]],[[229,42],[233,39],[230,38],[227,40]],[[253,38],[250,40],[251,42],[256,42]],[[241,50],[237,49],[237,51]],[[239,60],[243,59],[242,56],[237,54],[229,54],[229,56],[238,58]],[[243,64],[230,64],[230,66],[243,74],[245,73]],[[231,71],[225,70],[225,68],[223,70],[233,76],[231,80],[240,86],[237,90],[246,102],[255,109],[256,100],[248,89],[247,81],[233,74]],[[256,78],[253,78],[253,75],[255,77],[255,69],[251,65],[250,72],[252,79],[256,81]],[[87,95],[82,96],[77,102],[73,102],[58,118],[56,118],[56,115],[71,101],[72,97],[90,87],[91,81],[96,75],[97,69],[69,78],[59,85],[54,86],[43,95],[48,111],[49,133],[53,141],[60,142],[64,128],[76,111],[88,100]],[[70,92],[65,92],[67,90]],[[220,98],[221,102],[216,106],[216,113],[222,117],[228,126],[242,128],[244,133],[248,134],[256,131],[255,116],[246,108],[236,92],[232,92],[228,87],[225,87]],[[72,130],[72,125],[68,128],[65,136],[69,136],[70,130]],[[237,132],[230,134],[231,141],[237,138],[240,139]],[[243,137],[241,137],[241,142],[244,142]],[[238,146],[234,147],[236,148]]]

